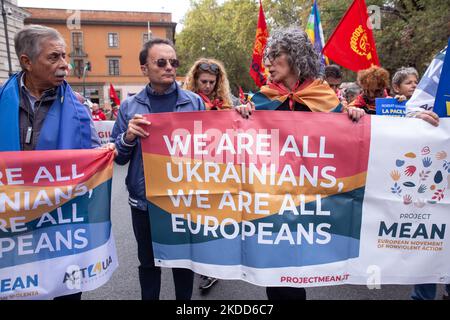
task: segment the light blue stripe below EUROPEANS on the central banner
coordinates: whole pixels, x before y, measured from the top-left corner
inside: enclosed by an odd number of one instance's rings
[[[277,234],[265,239],[275,239]],[[296,239],[296,233],[293,233]],[[314,234],[314,238],[317,234]],[[304,239],[303,239],[304,241]],[[294,248],[295,246],[295,248]],[[301,245],[281,241],[279,244],[259,244],[257,236],[219,239],[207,243],[164,245],[153,242],[155,259],[189,259],[195,262],[219,265],[243,265],[252,268],[302,267],[343,261],[359,256],[359,240],[331,235],[327,244]]]

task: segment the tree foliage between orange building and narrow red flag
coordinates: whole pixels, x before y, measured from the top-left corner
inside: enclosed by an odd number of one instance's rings
[[[186,74],[200,57],[223,62],[231,89],[240,85],[255,88],[249,75],[251,53],[256,33],[258,6],[252,0],[230,0],[219,5],[216,0],[192,1],[183,31],[177,36],[177,52]]]

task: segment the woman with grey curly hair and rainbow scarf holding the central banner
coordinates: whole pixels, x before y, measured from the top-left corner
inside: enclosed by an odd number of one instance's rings
[[[308,35],[300,28],[275,30],[268,39],[264,64],[268,84],[253,95],[251,105],[236,110],[247,118],[251,110],[290,110],[341,112],[334,91],[319,77],[320,60]],[[358,121],[364,114],[357,108],[347,110]]]

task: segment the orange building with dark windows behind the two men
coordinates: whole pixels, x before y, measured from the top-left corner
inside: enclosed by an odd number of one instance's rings
[[[109,87],[121,100],[148,82],[139,52],[150,37],[174,41],[171,13],[25,8],[25,24],[57,29],[66,41],[71,71],[67,81],[100,105],[109,103]]]

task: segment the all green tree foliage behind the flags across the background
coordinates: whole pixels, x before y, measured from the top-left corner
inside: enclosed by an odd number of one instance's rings
[[[318,0],[325,41],[353,0]],[[312,0],[263,0],[269,32],[277,27],[306,27]],[[374,30],[380,63],[391,73],[401,66],[416,67],[423,74],[433,56],[450,37],[450,1],[366,0],[381,9],[381,29]],[[185,74],[199,57],[221,60],[232,90],[255,90],[249,66],[256,32],[256,0],[193,0],[177,35],[177,51]],[[355,74],[346,72],[347,80]]]

